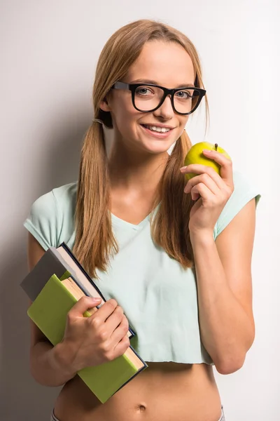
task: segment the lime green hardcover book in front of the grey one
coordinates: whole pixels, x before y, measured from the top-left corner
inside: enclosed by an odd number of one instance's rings
[[[64,281],[75,284],[71,277],[66,278],[67,275],[69,276],[69,273],[59,279],[56,274],[53,274],[27,310],[30,319],[36,323],[52,345],[57,345],[62,341],[66,314],[78,301],[75,294],[73,295],[73,290],[64,284]],[[87,311],[84,316],[90,316],[90,314]],[[147,363],[130,345],[125,354],[113,361],[83,368],[78,371],[78,375],[99,401],[104,403],[147,367]]]

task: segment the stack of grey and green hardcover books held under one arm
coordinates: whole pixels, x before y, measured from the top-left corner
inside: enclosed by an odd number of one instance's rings
[[[87,310],[83,316],[97,312],[106,302],[65,243],[58,248],[48,248],[20,286],[32,301],[27,310],[28,316],[52,345],[62,341],[67,313],[83,295],[102,299],[99,306]],[[127,335],[129,338],[136,335],[130,326]],[[99,401],[105,403],[147,367],[147,363],[130,345],[125,354],[113,361],[83,368],[77,374]]]

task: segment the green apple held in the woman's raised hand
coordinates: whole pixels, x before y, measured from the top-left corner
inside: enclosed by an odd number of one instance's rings
[[[217,152],[221,152],[221,154],[224,154],[227,158],[231,159],[230,155],[227,152],[225,152],[225,149],[223,149],[221,146],[218,146],[218,143],[215,143],[214,145],[213,143],[210,143],[210,142],[198,142],[198,143],[195,143],[195,145],[193,145],[188,151],[188,154],[186,154],[185,166],[190,165],[191,163],[202,163],[202,165],[207,165],[214,168],[216,173],[218,173],[218,175],[221,175],[220,173],[221,165],[219,165],[213,159],[207,158],[207,156],[204,155],[202,152],[203,149],[210,149]],[[186,180],[190,180],[190,178],[195,177],[195,175],[197,174],[187,173],[185,175],[186,175]]]

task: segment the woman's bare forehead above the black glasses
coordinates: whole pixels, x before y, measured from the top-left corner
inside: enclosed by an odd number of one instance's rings
[[[176,42],[149,41],[127,74],[128,81],[150,79],[174,88],[181,83],[194,83],[195,70],[190,55]]]

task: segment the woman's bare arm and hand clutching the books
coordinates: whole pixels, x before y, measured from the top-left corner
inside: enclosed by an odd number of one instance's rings
[[[45,250],[30,233],[27,249],[31,271]],[[31,375],[36,382],[45,386],[62,386],[78,370],[112,361],[130,347],[128,321],[116,300],[105,302],[92,316],[83,317],[87,309],[100,303],[100,299],[94,301],[89,297],[80,298],[67,314],[64,338],[55,347],[30,320],[29,361]]]

